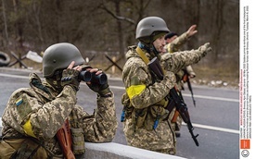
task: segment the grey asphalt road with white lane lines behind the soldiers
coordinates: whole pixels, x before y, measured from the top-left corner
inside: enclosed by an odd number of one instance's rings
[[[12,92],[20,87],[29,87],[28,75],[31,71],[0,68],[0,116]],[[42,74],[39,72],[39,75]],[[109,78],[109,85],[115,94],[119,127],[113,142],[126,144],[120,116],[122,112],[121,98],[124,92],[121,79]],[[186,88],[184,98],[188,106],[194,133],[199,134],[197,147],[192,140],[186,125],[182,126],[181,137],[177,138],[176,155],[189,159],[238,159],[238,91],[222,88],[209,88],[193,85],[196,107]],[[78,92],[78,104],[84,110],[93,113],[96,108],[96,93],[81,84]],[[1,126],[0,126],[1,127]]]

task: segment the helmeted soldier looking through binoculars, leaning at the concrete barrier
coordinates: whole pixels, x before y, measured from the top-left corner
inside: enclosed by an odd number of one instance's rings
[[[45,50],[45,81],[32,73],[31,88],[13,92],[6,105],[0,158],[74,158],[74,154],[84,153],[84,141],[112,141],[117,120],[108,82],[87,82],[97,93],[93,115],[76,104],[76,93],[84,80],[79,78],[81,71],[86,69],[94,77],[105,75],[98,68],[83,64],[84,59],[73,44],[57,43]]]

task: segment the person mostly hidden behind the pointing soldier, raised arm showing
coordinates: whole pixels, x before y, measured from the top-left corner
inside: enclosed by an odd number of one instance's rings
[[[192,25],[186,32],[182,35],[178,36],[176,32],[169,32],[165,35],[164,40],[166,45],[164,46],[164,50],[166,53],[173,54],[174,52],[180,51],[183,44],[185,44],[191,36],[196,34],[198,31],[196,30],[197,25]],[[177,80],[177,88],[178,91],[181,92],[184,90],[184,82],[186,82],[186,78],[193,79],[196,77],[196,73],[194,72],[191,66],[184,67],[176,74]],[[175,129],[176,137],[180,137],[180,128],[182,125],[182,117],[179,116],[178,112],[175,112],[175,115],[172,119],[172,125]]]

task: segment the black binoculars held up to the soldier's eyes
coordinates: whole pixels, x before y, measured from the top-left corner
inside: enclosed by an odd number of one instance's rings
[[[85,82],[91,81],[97,84],[105,84],[108,80],[107,75],[103,72],[99,75],[96,75],[96,72],[90,72],[86,70],[83,70],[79,73],[78,79],[81,79]]]

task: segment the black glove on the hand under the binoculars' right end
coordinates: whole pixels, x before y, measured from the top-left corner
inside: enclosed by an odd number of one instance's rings
[[[91,83],[90,84],[87,83],[87,85],[92,91],[97,92],[100,96],[105,96],[110,92],[108,79],[106,79],[106,82],[104,82],[103,84],[100,84],[99,82],[91,81]]]

